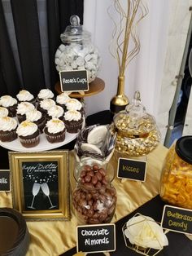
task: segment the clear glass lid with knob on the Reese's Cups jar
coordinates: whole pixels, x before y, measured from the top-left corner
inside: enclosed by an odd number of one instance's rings
[[[82,42],[83,39],[90,38],[90,33],[83,30],[79,16],[72,15],[70,17],[70,23],[71,25],[67,26],[65,31],[60,35],[62,42]]]

